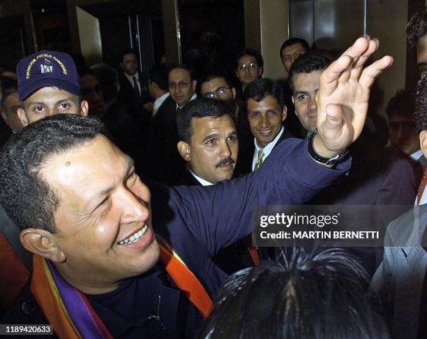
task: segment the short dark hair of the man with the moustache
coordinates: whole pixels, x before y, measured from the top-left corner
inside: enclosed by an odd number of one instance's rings
[[[234,124],[236,123],[234,121],[234,108],[224,101],[200,98],[186,103],[177,115],[179,140],[186,143],[190,142],[191,136],[194,134],[191,125],[193,117],[223,117],[224,115],[229,116]]]

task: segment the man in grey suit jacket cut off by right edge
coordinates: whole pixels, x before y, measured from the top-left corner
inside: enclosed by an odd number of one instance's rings
[[[427,156],[427,78],[417,85],[416,115],[419,141]],[[427,167],[416,207],[389,224],[384,259],[370,288],[377,292],[394,338],[427,336]]]

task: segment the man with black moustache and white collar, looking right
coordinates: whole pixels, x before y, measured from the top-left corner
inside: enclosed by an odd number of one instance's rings
[[[239,154],[234,112],[223,101],[197,99],[177,116],[179,154],[188,163],[180,184],[202,186],[231,179]],[[193,184],[194,185],[194,184]]]

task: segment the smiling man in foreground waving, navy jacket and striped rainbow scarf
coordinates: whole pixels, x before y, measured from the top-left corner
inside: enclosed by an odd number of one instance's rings
[[[324,71],[311,139],[287,140],[258,171],[210,187],[152,185],[151,197],[96,120],[57,115],[17,132],[0,154],[0,203],[35,254],[41,312],[22,312],[27,290],[3,324],[53,324],[61,338],[195,336],[226,277],[211,257],[250,233],[252,206],[303,203],[348,170],[340,154],[392,62],[362,72],[377,45],[359,38]]]

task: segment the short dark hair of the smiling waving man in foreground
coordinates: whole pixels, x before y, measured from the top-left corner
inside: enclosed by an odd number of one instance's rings
[[[100,120],[57,114],[20,129],[1,148],[0,203],[21,230],[56,231],[59,198],[40,172],[55,154],[88,143],[97,134],[106,135]]]

